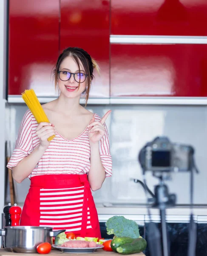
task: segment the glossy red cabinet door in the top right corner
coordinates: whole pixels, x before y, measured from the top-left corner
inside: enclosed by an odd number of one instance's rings
[[[111,0],[113,35],[207,35],[206,0]]]

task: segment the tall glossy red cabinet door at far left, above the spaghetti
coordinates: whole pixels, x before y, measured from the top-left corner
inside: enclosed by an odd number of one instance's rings
[[[9,95],[30,88],[38,96],[55,95],[59,15],[59,0],[9,0]]]

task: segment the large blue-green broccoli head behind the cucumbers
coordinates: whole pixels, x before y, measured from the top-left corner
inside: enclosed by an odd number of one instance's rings
[[[108,235],[117,237],[127,236],[139,238],[139,226],[135,221],[129,220],[124,216],[113,216],[106,221],[106,230]]]

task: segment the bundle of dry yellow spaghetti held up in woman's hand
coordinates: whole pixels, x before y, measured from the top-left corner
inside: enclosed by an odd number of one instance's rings
[[[49,122],[45,111],[43,110],[43,107],[41,106],[39,100],[37,99],[37,96],[33,89],[25,90],[22,93],[22,98],[25,101],[26,105],[30,109],[31,113],[33,114],[34,118],[38,122]],[[52,135],[48,138],[48,141],[51,141],[55,135]]]

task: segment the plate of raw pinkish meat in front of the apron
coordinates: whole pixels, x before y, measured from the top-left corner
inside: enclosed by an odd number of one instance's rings
[[[65,253],[93,253],[104,246],[94,241],[70,240],[63,244],[52,245],[52,247]]]

